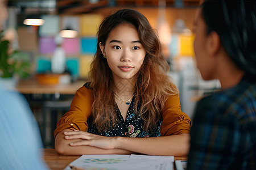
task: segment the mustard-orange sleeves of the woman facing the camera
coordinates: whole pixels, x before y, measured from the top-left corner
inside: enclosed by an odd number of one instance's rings
[[[86,131],[88,129],[87,119],[92,113],[92,103],[92,92],[84,86],[79,88],[69,111],[57,123],[54,137],[56,138],[57,133],[67,128]],[[179,95],[170,96],[166,100],[162,116],[163,122],[160,126],[162,136],[189,133],[191,120],[187,114],[181,112]]]

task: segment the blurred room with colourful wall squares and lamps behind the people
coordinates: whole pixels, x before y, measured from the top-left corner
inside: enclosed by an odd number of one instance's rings
[[[158,32],[182,111],[193,117],[196,101],[220,88],[205,82],[193,54],[193,20],[200,0],[9,0],[3,24],[0,83],[22,93],[40,126],[44,147],[86,81],[96,53],[97,28],[121,8],[140,11]],[[150,37],[148,37],[150,39]]]

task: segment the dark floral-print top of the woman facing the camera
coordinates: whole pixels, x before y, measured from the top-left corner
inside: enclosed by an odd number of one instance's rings
[[[104,130],[100,133],[98,132],[95,125],[92,125],[92,119],[89,118],[88,120],[88,132],[93,134],[98,134],[102,136],[107,137],[139,137],[139,138],[147,138],[147,137],[159,137],[160,136],[160,124],[161,121],[158,121],[158,125],[156,128],[152,131],[144,131],[143,125],[144,121],[142,118],[134,112],[134,100],[131,100],[131,104],[129,106],[126,120],[123,120],[122,114],[119,111],[117,105],[115,105],[115,108],[117,109],[117,118],[118,118],[118,124],[115,125],[115,127],[111,130]]]

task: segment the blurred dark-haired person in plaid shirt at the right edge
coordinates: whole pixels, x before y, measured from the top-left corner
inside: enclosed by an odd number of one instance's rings
[[[195,109],[187,169],[256,169],[256,1],[205,1],[194,50],[222,90]]]

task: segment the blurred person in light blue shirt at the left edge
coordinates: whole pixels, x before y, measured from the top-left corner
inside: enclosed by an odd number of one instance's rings
[[[0,29],[6,18],[7,1],[0,0]],[[42,141],[38,125],[26,99],[5,90],[1,83],[0,137],[0,169],[47,169],[39,155]]]

